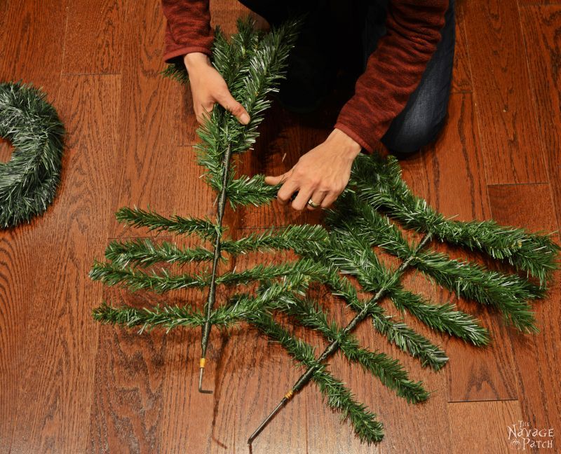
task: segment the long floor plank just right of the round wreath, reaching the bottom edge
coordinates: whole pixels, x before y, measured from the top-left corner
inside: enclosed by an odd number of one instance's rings
[[[29,245],[36,266],[22,298],[29,322],[14,382],[21,391],[13,452],[86,448],[97,349],[90,308],[101,297],[88,270],[107,237],[97,221],[107,219],[113,198],[120,92],[120,76],[64,78],[60,114],[69,136],[58,197]]]

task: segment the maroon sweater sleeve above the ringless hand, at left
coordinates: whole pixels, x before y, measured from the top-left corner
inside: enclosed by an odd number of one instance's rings
[[[210,55],[214,34],[210,27],[209,0],[162,0],[168,23],[165,27],[163,60],[191,52]]]

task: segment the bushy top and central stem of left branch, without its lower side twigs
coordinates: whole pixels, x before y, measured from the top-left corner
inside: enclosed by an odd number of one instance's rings
[[[283,77],[286,60],[290,48],[295,41],[296,24],[288,24],[273,30],[258,39],[250,23],[239,23],[238,39],[228,43],[222,36],[215,41],[213,64],[223,74],[229,90],[245,107],[250,115],[250,123],[245,126],[238,123],[236,117],[216,104],[212,113],[198,130],[202,139],[197,146],[199,163],[208,169],[206,180],[217,191],[217,230],[222,228],[222,219],[227,200],[232,207],[236,206],[236,188],[234,172],[231,170],[231,156],[246,151],[255,142],[257,126],[263,118],[263,111],[270,105],[267,95],[276,90],[280,78]],[[220,252],[221,235],[217,235],[212,261],[208,298],[205,303],[206,323],[201,336],[201,361],[198,380],[199,392],[210,392],[202,389],[203,371],[206,361],[206,350],[212,324],[210,317],[215,305],[217,268]]]

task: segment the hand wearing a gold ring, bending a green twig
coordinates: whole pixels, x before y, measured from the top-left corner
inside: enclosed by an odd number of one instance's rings
[[[313,209],[311,199],[322,208],[329,207],[349,183],[351,165],[360,153],[360,145],[342,130],[334,129],[323,144],[302,156],[296,165],[278,177],[266,177],[266,184],[284,183],[277,193],[281,205],[288,203],[292,194],[298,195],[292,208]]]

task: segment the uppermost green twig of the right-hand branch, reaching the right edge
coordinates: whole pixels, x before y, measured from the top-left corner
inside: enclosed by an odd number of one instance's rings
[[[452,245],[468,247],[504,260],[537,277],[545,285],[559,263],[559,245],[546,235],[527,233],[522,228],[499,226],[494,221],[452,221],[435,212],[414,195],[401,178],[396,158],[358,156],[351,184],[361,200],[384,209],[407,228],[431,233]]]

